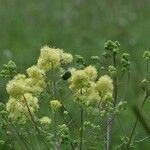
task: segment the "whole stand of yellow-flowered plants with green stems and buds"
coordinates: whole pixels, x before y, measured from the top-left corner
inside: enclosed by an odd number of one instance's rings
[[[6,104],[0,105],[3,134],[0,143],[11,149],[135,147],[141,141],[133,138],[138,116],[131,133],[124,133],[125,127],[120,123],[123,136],[116,138],[113,134],[116,121],[128,108],[131,58],[128,53],[121,53],[118,41],[107,41],[104,49],[102,57],[91,56],[87,60],[44,46],[37,63],[24,74],[16,74],[12,61],[4,65],[1,76],[8,79],[9,98]],[[144,94],[141,110],[150,98],[149,56],[150,51],[145,51],[147,67],[141,82]],[[125,88],[123,94],[121,88]]]

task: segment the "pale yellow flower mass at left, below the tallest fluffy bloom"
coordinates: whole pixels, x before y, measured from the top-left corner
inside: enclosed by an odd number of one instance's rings
[[[9,117],[18,123],[25,123],[29,119],[29,111],[34,115],[38,110],[38,99],[33,94],[42,92],[46,86],[44,72],[37,66],[27,69],[27,75],[16,75],[6,87],[10,95],[6,110]]]

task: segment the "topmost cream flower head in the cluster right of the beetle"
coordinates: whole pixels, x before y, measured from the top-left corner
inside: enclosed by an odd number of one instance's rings
[[[95,80],[97,78],[97,70],[94,66],[90,65],[84,69],[84,72],[88,75],[90,80]]]

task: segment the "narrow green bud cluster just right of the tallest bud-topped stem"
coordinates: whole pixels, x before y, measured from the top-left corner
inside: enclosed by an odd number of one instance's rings
[[[121,65],[123,70],[129,70],[130,61],[129,61],[129,54],[123,53],[121,57]]]

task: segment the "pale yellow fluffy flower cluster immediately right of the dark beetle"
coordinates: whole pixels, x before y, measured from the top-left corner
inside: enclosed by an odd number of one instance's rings
[[[97,81],[97,70],[91,65],[83,70],[74,70],[69,82],[75,100],[87,106],[99,106],[106,99],[105,95],[113,92],[112,79],[104,75]]]

